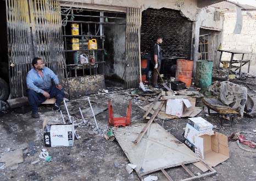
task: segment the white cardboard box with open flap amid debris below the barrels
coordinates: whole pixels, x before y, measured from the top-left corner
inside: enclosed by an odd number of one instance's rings
[[[169,99],[166,103],[166,114],[181,117],[183,107],[190,108],[192,105],[188,99]]]

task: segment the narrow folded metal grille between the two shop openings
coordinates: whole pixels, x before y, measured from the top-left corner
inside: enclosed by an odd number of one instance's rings
[[[127,8],[126,15],[126,88],[138,87],[140,75],[141,9]]]

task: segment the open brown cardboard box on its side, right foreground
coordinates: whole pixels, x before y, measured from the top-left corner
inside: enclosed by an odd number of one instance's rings
[[[213,135],[201,134],[196,137],[195,153],[208,165],[215,167],[229,159],[227,136],[218,132]]]

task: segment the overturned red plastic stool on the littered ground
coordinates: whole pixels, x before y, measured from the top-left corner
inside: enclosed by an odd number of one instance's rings
[[[131,126],[131,100],[129,100],[129,105],[126,110],[126,117],[114,117],[113,108],[110,100],[108,101],[108,113],[109,113],[109,120],[108,120],[109,125],[124,126],[124,127],[126,125]]]

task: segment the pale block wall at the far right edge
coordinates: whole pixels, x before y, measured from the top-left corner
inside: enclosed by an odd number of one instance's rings
[[[234,34],[236,13],[225,13],[222,49],[237,49],[256,53],[256,11],[244,11],[242,16],[241,34]],[[229,61],[230,56],[228,53],[223,53],[222,60]],[[245,58],[251,59],[251,65],[255,64],[255,55],[250,54]],[[241,59],[241,55],[236,55],[235,59]]]

